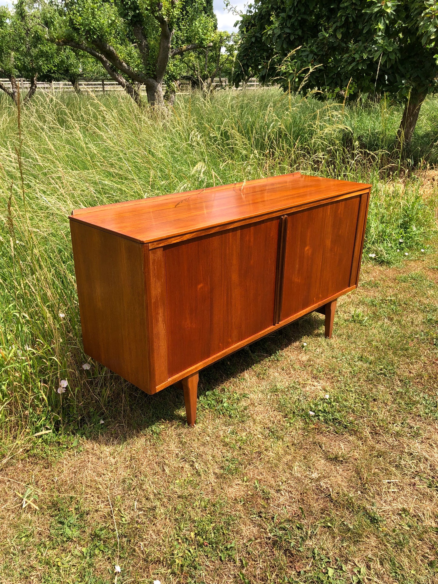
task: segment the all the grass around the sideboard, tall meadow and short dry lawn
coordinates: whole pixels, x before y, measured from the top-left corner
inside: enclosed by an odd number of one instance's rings
[[[399,169],[387,103],[40,95],[21,147],[0,107],[0,582],[436,582],[436,100]],[[332,340],[311,314],[208,367],[194,429],[88,360],[72,208],[297,169],[374,185]]]

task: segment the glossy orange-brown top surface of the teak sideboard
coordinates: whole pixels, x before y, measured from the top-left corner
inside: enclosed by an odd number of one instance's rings
[[[294,172],[234,185],[82,208],[72,211],[70,219],[146,244],[318,203],[370,186]]]

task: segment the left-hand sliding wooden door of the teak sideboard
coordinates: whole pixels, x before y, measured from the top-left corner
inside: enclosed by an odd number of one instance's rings
[[[169,377],[272,326],[279,220],[166,246]]]

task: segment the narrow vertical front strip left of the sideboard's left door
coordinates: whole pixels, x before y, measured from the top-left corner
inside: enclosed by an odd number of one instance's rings
[[[147,281],[148,339],[151,349],[151,393],[169,378],[167,346],[166,258],[163,248],[145,250]]]

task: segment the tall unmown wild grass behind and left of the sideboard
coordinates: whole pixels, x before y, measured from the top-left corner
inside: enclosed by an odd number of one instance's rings
[[[300,170],[373,183],[364,256],[401,261],[425,249],[435,227],[434,197],[423,196],[418,171],[438,159],[436,106],[425,103],[409,158],[394,162],[401,109],[384,100],[343,107],[260,89],[180,96],[155,116],[120,95],[41,94],[22,110],[20,128],[15,106],[1,100],[3,439],[130,407],[125,381],[96,363],[82,369],[73,208]],[[68,382],[61,394],[60,380]]]

